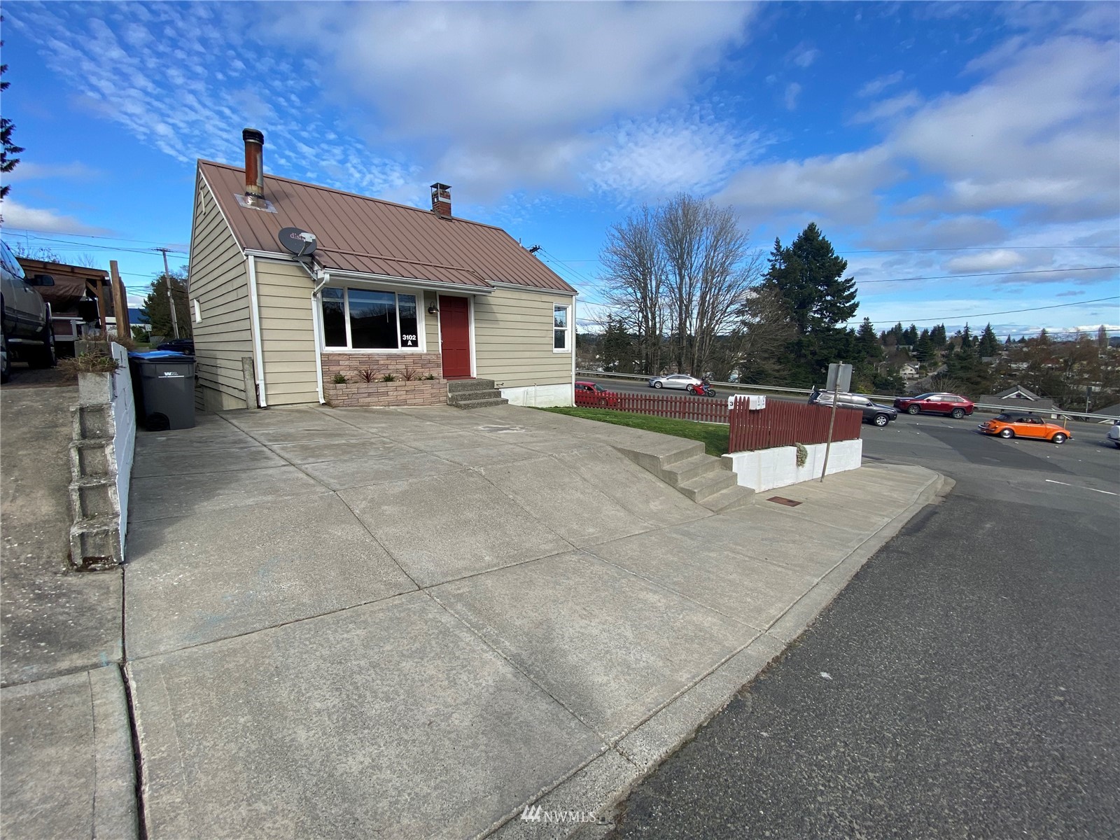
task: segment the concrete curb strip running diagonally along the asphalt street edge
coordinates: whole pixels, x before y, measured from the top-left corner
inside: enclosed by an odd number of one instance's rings
[[[525,803],[504,822],[476,838],[495,840],[598,840],[614,829],[615,809],[631,791],[722,711],[745,685],[778,659],[825,607],[843,590],[857,571],[886,545],[918,512],[946,495],[955,482],[924,467],[930,479],[914,492],[911,504],[842,558],[793,606],[762,634],[717,665],[689,689],[610,744],[551,788]],[[544,822],[522,820],[525,809],[550,814],[571,814],[575,803],[588,821]],[[590,821],[591,814],[603,822]]]

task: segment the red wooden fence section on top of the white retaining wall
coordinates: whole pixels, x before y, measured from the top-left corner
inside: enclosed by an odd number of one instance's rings
[[[749,411],[736,405],[728,413],[731,433],[727,450],[749,452],[794,444],[824,444],[829,439],[832,408],[767,400],[765,409]],[[837,409],[832,440],[857,440],[862,422],[862,411]]]

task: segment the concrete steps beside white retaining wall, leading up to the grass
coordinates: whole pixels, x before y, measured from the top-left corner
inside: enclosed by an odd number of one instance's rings
[[[752,503],[754,491],[740,487],[727,461],[706,455],[703,444],[698,440],[681,440],[680,446],[670,445],[662,451],[646,447],[615,449],[715,513]]]

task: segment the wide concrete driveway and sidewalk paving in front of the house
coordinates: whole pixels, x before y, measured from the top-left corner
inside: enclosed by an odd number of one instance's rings
[[[933,498],[866,467],[712,514],[513,407],[141,435],[125,666],[151,838],[549,836],[605,809]],[[617,448],[616,448],[617,447]]]

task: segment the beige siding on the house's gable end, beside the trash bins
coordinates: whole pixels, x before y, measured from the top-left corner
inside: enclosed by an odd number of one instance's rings
[[[199,177],[190,232],[190,299],[202,308],[202,321],[192,332],[198,388],[195,405],[204,411],[243,409],[244,377],[241,361],[253,355],[245,259],[209,187]],[[251,402],[254,395],[250,394]]]

